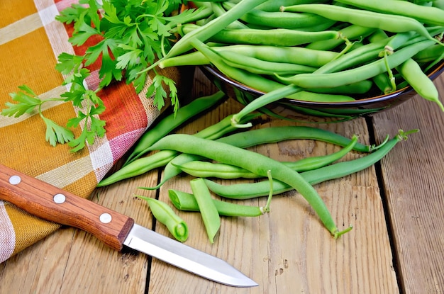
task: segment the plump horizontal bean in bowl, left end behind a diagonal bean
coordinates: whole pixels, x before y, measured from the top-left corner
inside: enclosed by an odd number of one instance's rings
[[[186,23],[179,27],[179,31],[187,36],[199,26]],[[297,46],[318,40],[330,40],[338,38],[335,30],[323,30],[319,32],[305,32],[303,30],[291,30],[287,28],[272,28],[260,30],[255,28],[223,29],[212,35],[208,40],[226,44],[272,45],[272,46]],[[196,39],[198,40],[198,39]]]

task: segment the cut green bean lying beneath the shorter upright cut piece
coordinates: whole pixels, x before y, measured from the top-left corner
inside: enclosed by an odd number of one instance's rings
[[[192,193],[182,192],[170,189],[168,196],[175,208],[184,211],[200,211],[196,198]],[[238,203],[230,203],[226,201],[213,199],[214,206],[219,215],[231,217],[257,217],[263,215],[265,210],[263,207],[240,205]]]

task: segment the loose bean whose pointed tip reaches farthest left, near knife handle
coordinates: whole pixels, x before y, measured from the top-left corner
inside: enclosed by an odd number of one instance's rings
[[[257,114],[251,114],[248,117],[245,117],[245,120],[251,120],[255,118]],[[194,134],[196,137],[206,137],[210,140],[217,139],[218,137],[222,137],[226,135],[228,132],[233,132],[236,130],[233,125],[231,125],[231,117],[232,115],[228,115],[223,120],[218,123],[201,130]],[[151,154],[148,157],[141,157],[139,159],[135,159],[135,161],[123,166],[121,169],[118,169],[115,173],[110,176],[102,179],[97,186],[103,187],[111,185],[111,183],[116,183],[118,181],[122,181],[124,179],[129,179],[134,176],[140,176],[141,174],[145,174],[152,169],[157,169],[158,167],[165,166],[168,162],[170,162],[174,157],[177,157],[179,152],[172,152],[163,150],[157,152],[155,154]]]

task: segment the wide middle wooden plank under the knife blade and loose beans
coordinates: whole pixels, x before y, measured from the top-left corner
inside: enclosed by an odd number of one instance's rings
[[[237,104],[220,108],[187,125],[179,132],[192,133],[195,126],[210,125],[235,111]],[[256,128],[292,125],[282,120],[262,120]],[[340,134],[360,135],[368,142],[365,120],[314,125]],[[322,142],[301,140],[253,148],[280,160],[338,150]],[[359,156],[352,153],[348,159]],[[160,200],[169,202],[167,191],[191,191],[189,176],[168,181]],[[344,179],[321,183],[317,190],[331,209],[340,228],[350,223],[354,230],[338,240],[331,238],[313,210],[296,192],[275,196],[272,211],[261,217],[223,217],[221,231],[210,244],[198,213],[177,212],[189,224],[186,244],[228,261],[260,284],[256,288],[232,288],[191,273],[152,261],[149,293],[399,293],[392,265],[392,251],[384,220],[382,200],[373,168]],[[265,198],[245,204],[264,205]],[[158,232],[169,234],[157,225]]]

